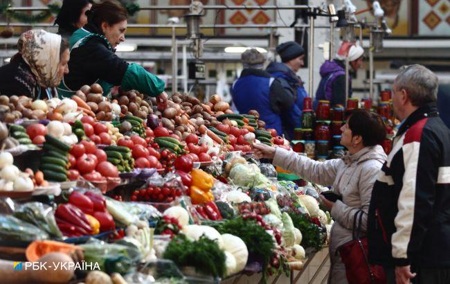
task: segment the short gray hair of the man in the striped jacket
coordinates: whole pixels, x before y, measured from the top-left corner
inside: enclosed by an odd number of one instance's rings
[[[397,90],[405,89],[408,98],[415,107],[436,101],[438,94],[438,76],[420,64],[400,67],[400,73],[395,78]]]

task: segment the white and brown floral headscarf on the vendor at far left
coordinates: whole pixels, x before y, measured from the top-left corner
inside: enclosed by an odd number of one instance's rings
[[[59,85],[60,35],[45,30],[28,30],[21,34],[17,46],[41,87]]]

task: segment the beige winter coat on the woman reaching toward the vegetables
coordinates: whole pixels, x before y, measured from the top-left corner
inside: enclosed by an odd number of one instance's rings
[[[336,254],[336,248],[352,240],[353,217],[360,209],[364,211],[362,231],[366,232],[372,187],[385,160],[386,154],[380,145],[323,163],[282,148],[276,150],[273,164],[315,184],[332,186],[332,190],[343,197],[343,201],[338,200],[330,212],[335,222],[330,238],[329,283],[348,283],[345,266],[339,253]]]

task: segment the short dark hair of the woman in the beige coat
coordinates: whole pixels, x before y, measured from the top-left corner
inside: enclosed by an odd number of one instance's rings
[[[386,125],[375,112],[366,109],[354,109],[348,118],[348,127],[352,135],[361,135],[364,146],[375,146],[386,139]]]

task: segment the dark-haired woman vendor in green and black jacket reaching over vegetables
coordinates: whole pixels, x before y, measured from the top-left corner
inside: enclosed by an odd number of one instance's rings
[[[70,97],[83,85],[97,82],[104,96],[110,96],[112,87],[120,86],[125,91],[135,89],[157,96],[164,103],[167,100],[164,81],[141,65],[129,64],[115,54],[114,48],[125,41],[125,8],[115,0],[106,0],[94,3],[87,17],[87,24],[71,36],[71,73],[64,76],[58,87],[60,96]]]

